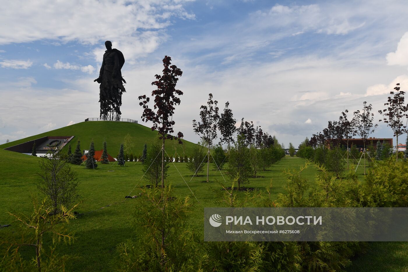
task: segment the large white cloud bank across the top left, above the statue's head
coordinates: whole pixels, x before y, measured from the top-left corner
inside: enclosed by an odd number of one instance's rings
[[[171,25],[171,17],[195,19],[184,9],[185,2],[38,0],[24,3],[21,8],[20,2],[8,1],[2,5],[7,12],[0,16],[0,44],[53,40],[49,44],[75,41],[95,45],[111,40],[119,42],[120,50],[124,49],[131,60],[157,48],[166,38],[162,30]]]

